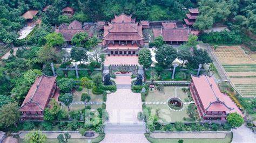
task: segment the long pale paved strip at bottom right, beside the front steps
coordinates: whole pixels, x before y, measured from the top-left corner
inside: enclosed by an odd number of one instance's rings
[[[150,134],[151,138],[155,139],[223,139],[227,133],[231,131],[218,132],[153,132]]]

